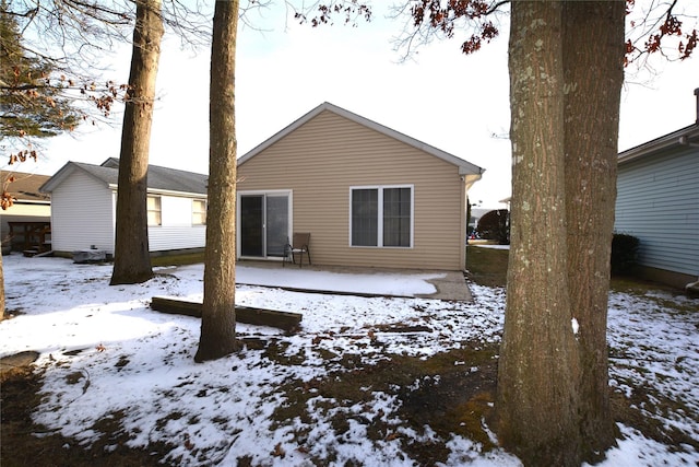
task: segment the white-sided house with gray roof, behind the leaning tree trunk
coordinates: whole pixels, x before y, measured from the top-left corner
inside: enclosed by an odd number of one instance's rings
[[[119,160],[69,162],[42,186],[51,195],[52,249],[95,247],[114,255]],[[149,246],[152,253],[203,248],[208,175],[149,166]]]

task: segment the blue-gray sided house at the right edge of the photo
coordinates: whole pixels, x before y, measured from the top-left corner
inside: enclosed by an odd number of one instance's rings
[[[697,282],[699,115],[695,125],[619,154],[614,226],[640,240],[641,276],[678,288]]]

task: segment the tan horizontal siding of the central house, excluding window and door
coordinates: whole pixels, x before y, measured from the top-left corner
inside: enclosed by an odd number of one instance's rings
[[[238,167],[239,190],[293,191],[293,230],[318,265],[463,268],[464,183],[441,159],[323,112]],[[412,185],[412,248],[350,245],[351,187]]]

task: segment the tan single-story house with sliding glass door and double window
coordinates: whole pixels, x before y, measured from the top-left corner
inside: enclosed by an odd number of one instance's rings
[[[310,232],[313,265],[463,269],[483,172],[323,103],[238,160],[237,255],[281,260]]]

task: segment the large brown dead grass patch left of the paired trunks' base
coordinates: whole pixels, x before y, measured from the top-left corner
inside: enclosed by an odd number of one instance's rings
[[[495,346],[464,345],[428,359],[387,355],[370,365],[343,355],[344,370],[281,387],[285,402],[274,411],[273,420],[276,427],[301,423],[304,428],[295,432],[301,451],[308,451],[305,444],[319,412],[330,420],[335,437],[342,437],[352,423],[365,425],[375,442],[400,439],[403,451],[419,465],[446,462],[446,443],[454,434],[481,443],[487,451],[494,447],[484,420],[495,397],[496,352]],[[394,397],[396,412],[374,411],[377,394]],[[435,435],[429,442],[416,443],[401,434],[412,430],[426,435],[426,427]],[[313,460],[322,464],[332,459]]]

